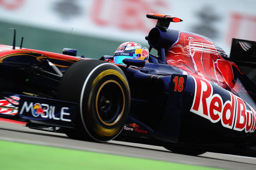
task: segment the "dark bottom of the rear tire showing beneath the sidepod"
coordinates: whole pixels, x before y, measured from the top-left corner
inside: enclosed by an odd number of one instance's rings
[[[196,148],[189,148],[187,146],[175,145],[175,146],[165,146],[165,149],[172,151],[173,153],[197,156],[204,154],[205,151],[197,150]]]

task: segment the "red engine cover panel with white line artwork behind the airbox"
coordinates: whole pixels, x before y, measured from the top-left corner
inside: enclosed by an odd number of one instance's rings
[[[217,48],[219,51],[217,51]],[[179,32],[178,40],[166,51],[166,62],[187,71],[194,76],[200,76],[214,81],[224,88],[237,92],[242,87],[234,83],[233,62],[222,58],[225,52],[203,36]]]

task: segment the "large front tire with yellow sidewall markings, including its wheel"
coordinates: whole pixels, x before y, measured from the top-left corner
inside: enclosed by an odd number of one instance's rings
[[[129,114],[131,95],[123,71],[112,63],[83,60],[71,65],[61,78],[57,98],[78,103],[75,139],[109,141],[122,130]]]

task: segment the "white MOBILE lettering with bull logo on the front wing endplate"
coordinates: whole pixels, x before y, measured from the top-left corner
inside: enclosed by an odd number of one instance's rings
[[[55,106],[50,106],[48,104],[33,104],[32,102],[24,102],[22,108],[20,109],[19,114],[31,113],[33,117],[49,118],[54,120],[61,120],[64,122],[71,122],[71,119],[68,119],[67,116],[70,116],[70,113],[67,112],[70,110],[68,107],[61,107],[60,112],[55,113]],[[59,117],[56,115],[59,114]]]

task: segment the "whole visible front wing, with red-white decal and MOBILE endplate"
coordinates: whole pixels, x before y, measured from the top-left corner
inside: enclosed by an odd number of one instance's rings
[[[22,122],[74,127],[77,103],[12,94],[0,100],[0,117]]]

